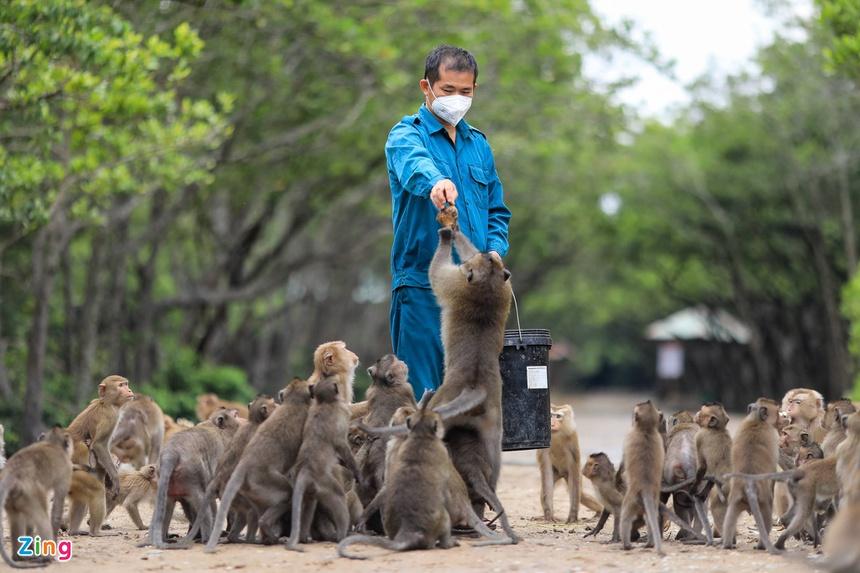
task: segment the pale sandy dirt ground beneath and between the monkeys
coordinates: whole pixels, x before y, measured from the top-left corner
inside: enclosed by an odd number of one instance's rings
[[[626,395],[598,394],[574,398],[570,402],[577,412],[583,455],[605,451],[617,463],[623,434],[629,426],[629,408],[634,399]],[[607,430],[607,427],[611,430]],[[590,491],[588,480],[584,480]],[[339,559],[334,544],[318,543],[303,546],[303,553],[288,552],[281,546],[221,545],[214,554],[206,554],[197,545],[186,551],[157,551],[137,548],[144,532],[134,529],[131,520],[119,511],[108,520],[112,535],[74,538],[74,557],[70,562],[52,568],[64,571],[93,573],[94,571],[230,571],[234,569],[302,571],[696,571],[730,573],[738,571],[780,571],[780,573],[809,572],[804,556],[812,554],[811,547],[801,548],[790,542],[787,556],[770,556],[756,551],[752,519],[744,518],[738,531],[738,550],[724,551],[712,547],[684,546],[667,541],[667,556],[658,557],[653,550],[637,546],[631,551],[619,545],[608,545],[611,521],[597,540],[583,540],[582,535],[596,523],[591,511],[580,509],[580,521],[575,524],[547,523],[541,514],[538,498],[538,469],[534,452],[508,452],[499,483],[499,497],[511,516],[511,523],[524,541],[516,546],[470,547],[468,539],[450,550],[418,551],[388,554],[376,548],[356,546],[357,552],[372,557],[368,561]],[[555,495],[557,517],[567,515],[563,487]],[[147,520],[151,508],[142,508]],[[179,513],[177,511],[177,513]],[[171,531],[181,533],[187,524],[174,519]],[[7,530],[8,531],[8,530]],[[674,534],[675,528],[672,528]],[[772,539],[775,539],[775,534]],[[8,543],[8,541],[7,541]],[[8,547],[8,545],[7,545]]]

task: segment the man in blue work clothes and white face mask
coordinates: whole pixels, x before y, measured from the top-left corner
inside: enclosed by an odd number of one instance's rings
[[[391,343],[409,366],[416,396],[442,383],[440,310],[427,270],[439,242],[436,214],[449,202],[460,231],[482,252],[504,257],[508,222],[502,184],[486,136],[463,121],[478,64],[461,48],[433,50],[418,82],[424,102],[388,134],[385,157],[393,204]]]

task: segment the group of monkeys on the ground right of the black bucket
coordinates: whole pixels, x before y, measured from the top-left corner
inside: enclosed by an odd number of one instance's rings
[[[860,413],[847,399],[826,405],[808,388],[789,391],[782,404],[759,398],[732,437],[729,417],[719,403],[693,414],[679,411],[665,420],[650,401],[637,404],[624,442],[621,467],[605,453],[591,454],[582,475],[597,499],[582,492],[580,450],[570,406],[552,406],[552,441],[539,450],[541,505],[554,521],[552,493],[564,479],[570,495],[568,523],[578,519],[580,503],[600,514],[588,536],[596,536],[611,515],[612,541],[631,547],[648,526],[647,546],[662,554],[662,518],[681,526],[685,543],[735,546],[738,518],[752,514],[759,549],[778,553],[797,537],[815,547],[827,526],[825,566],[860,571]],[[783,471],[776,471],[782,469]],[[672,497],[672,509],[666,506]],[[713,515],[713,526],[707,516]],[[674,511],[673,511],[674,510]],[[785,526],[770,540],[776,513]],[[704,535],[702,532],[704,531]]]

